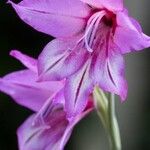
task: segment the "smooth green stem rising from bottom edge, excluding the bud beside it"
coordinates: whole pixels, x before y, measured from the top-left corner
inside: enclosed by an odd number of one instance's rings
[[[115,114],[114,94],[110,94],[110,99],[108,100],[108,119],[111,150],[121,150],[121,138]]]

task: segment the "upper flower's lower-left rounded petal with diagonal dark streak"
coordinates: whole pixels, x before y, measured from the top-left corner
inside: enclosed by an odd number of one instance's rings
[[[39,80],[61,80],[82,67],[88,53],[76,47],[77,40],[55,39],[44,48],[38,59]]]

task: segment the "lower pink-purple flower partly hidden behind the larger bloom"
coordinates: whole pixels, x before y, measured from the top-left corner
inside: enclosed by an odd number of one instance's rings
[[[64,81],[36,82],[37,61],[18,51],[11,55],[28,69],[0,78],[0,91],[35,113],[18,129],[20,150],[63,150],[74,126],[93,109],[89,100],[84,111],[67,118],[64,110]]]

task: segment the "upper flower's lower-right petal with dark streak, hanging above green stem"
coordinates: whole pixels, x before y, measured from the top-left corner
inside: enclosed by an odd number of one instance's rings
[[[94,76],[101,89],[120,95],[122,100],[127,96],[127,82],[124,73],[124,60],[118,47],[110,45],[108,53],[101,50],[95,61]]]

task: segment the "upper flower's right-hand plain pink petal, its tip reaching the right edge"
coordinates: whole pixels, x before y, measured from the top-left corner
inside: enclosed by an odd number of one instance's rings
[[[138,22],[126,13],[120,12],[117,14],[117,24],[114,42],[123,54],[139,51],[150,46],[150,37],[142,33]]]

